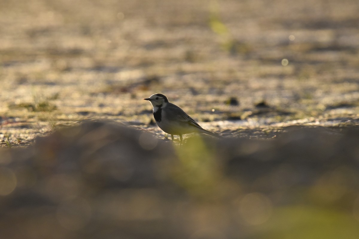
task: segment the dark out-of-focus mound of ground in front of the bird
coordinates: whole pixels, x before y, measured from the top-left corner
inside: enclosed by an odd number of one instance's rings
[[[85,123],[1,149],[0,238],[359,238],[359,130],[182,147]]]

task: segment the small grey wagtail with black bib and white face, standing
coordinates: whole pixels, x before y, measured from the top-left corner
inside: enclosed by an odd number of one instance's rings
[[[153,116],[158,127],[167,134],[171,134],[172,141],[174,139],[173,135],[180,135],[182,144],[182,135],[189,133],[204,133],[217,138],[223,138],[218,134],[203,129],[180,107],[168,102],[167,97],[162,94],[154,94],[144,100],[151,102]]]

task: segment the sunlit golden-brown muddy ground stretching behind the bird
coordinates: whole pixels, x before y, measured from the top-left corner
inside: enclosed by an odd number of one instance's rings
[[[158,92],[233,137],[358,125],[358,12],[356,0],[1,0],[2,144],[85,119],[163,134],[142,100]]]

